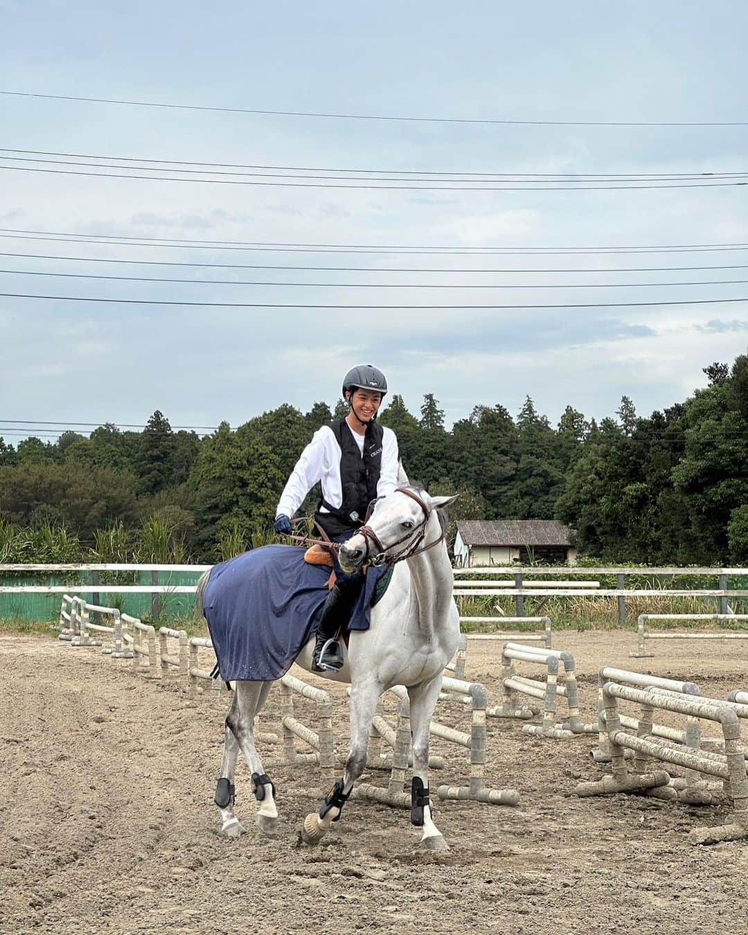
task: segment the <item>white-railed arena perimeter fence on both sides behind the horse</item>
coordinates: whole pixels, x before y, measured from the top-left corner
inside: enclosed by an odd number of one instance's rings
[[[186,622],[195,617],[194,591],[200,575],[209,568],[209,565],[164,564],[0,564],[0,619],[51,622],[58,616],[60,597],[69,593],[84,596],[93,605],[116,607],[151,624],[168,620],[174,621],[175,626],[192,629]],[[683,580],[698,586],[678,587]],[[609,586],[613,581],[615,587]],[[642,583],[647,586],[642,587]],[[663,610],[663,601],[667,602],[666,609],[673,611],[683,611],[683,602],[689,602],[690,615],[673,614],[671,625],[693,632],[698,614],[707,611],[717,624],[716,629],[710,628],[712,634],[719,636],[726,628],[748,632],[746,622],[741,620],[741,615],[748,613],[748,568],[454,568],[454,596],[463,630],[497,631],[497,636],[510,640],[538,640],[547,649],[551,647],[551,621],[546,605],[555,599],[557,608],[559,598],[582,600],[591,608],[597,598],[614,598],[619,626],[627,623],[626,601],[629,611],[631,604],[636,603],[638,614],[650,610],[651,603],[650,619],[654,611]],[[532,607],[525,609],[528,597],[533,598]],[[508,602],[501,598],[511,598],[511,616],[506,610]],[[691,606],[694,601],[698,601],[698,611]],[[99,626],[104,623],[96,611],[93,622]],[[533,631],[534,635],[530,635]],[[640,648],[638,654],[641,653]]]

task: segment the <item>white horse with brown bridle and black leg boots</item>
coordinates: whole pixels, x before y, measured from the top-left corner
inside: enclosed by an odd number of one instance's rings
[[[324,678],[350,682],[351,748],[343,776],[324,798],[319,813],[309,813],[301,836],[309,844],[320,841],[338,819],[353,784],[367,765],[369,727],[382,692],[405,685],[410,698],[413,745],[412,808],[410,821],[423,827],[425,847],[446,850],[434,824],[428,794],[429,725],[439,698],[444,667],[457,648],[460,625],[453,599],[453,572],[438,509],[453,496],[429,496],[412,486],[398,487],[381,498],[363,526],[340,546],[338,559],[346,571],[374,563],[395,566],[392,581],[381,601],[371,610],[371,626],[353,631],[343,669]],[[209,573],[201,578],[197,601]],[[296,662],[311,668],[312,637]],[[215,803],[221,809],[222,832],[238,837],[244,828],[234,813],[234,776],[239,751],[252,773],[252,787],[260,805],[257,825],[267,835],[275,833],[278,810],[275,787],[263,769],[254,746],[254,718],[262,710],[272,682],[237,682],[226,717],[221,778]]]

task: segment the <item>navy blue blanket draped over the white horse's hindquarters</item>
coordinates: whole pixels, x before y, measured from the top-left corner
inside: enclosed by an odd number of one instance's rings
[[[224,682],[274,682],[319,626],[330,568],[309,565],[303,548],[266,545],[210,569],[203,613]],[[369,568],[351,630],[367,630],[388,568]]]

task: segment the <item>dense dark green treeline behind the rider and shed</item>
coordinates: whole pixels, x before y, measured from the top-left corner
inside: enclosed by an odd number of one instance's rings
[[[457,519],[551,519],[598,562],[748,562],[748,355],[704,367],[709,385],[648,418],[623,396],[599,424],[568,406],[556,427],[525,397],[516,419],[476,406],[450,431],[433,393],[420,418],[388,397],[410,478],[459,492]],[[0,438],[0,559],[84,555],[104,562],[209,561],[258,547],[312,434],[348,413],[283,405],[211,436],[172,431],[156,410],[142,432],[101,425],[85,438]],[[312,511],[310,492],[304,511]],[[51,560],[51,559],[50,559]],[[63,560],[63,559],[60,559]]]

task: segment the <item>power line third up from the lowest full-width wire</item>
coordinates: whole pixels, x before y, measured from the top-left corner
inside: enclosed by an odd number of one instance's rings
[[[62,242],[65,243],[66,241]],[[23,257],[25,259],[31,260],[70,260],[79,263],[117,263],[127,264],[128,266],[190,266],[196,268],[208,267],[213,269],[282,269],[325,273],[665,273],[678,271],[695,272],[696,270],[703,269],[748,269],[748,264],[733,264],[729,266],[617,266],[611,268],[596,268],[594,266],[585,266],[583,268],[565,269],[554,269],[553,267],[545,269],[471,269],[460,266],[432,266],[426,268],[404,266],[268,266],[265,264],[239,263],[178,263],[168,260],[122,260],[100,256],[60,256],[55,255],[54,253],[0,252],[0,256]],[[316,284],[317,283],[315,283],[315,285]]]

